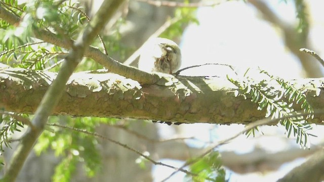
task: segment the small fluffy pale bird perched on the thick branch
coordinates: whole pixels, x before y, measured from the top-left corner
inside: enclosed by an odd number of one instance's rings
[[[175,73],[181,66],[181,51],[178,44],[167,38],[154,38],[144,47],[138,62],[143,71]]]

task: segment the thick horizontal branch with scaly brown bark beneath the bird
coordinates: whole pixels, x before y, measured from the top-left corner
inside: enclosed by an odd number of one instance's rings
[[[55,77],[53,72],[10,68],[0,64],[0,108],[34,113]],[[324,107],[324,96],[313,96],[316,88],[323,88],[323,81],[323,78],[301,79],[291,83],[308,89],[309,103],[320,110]],[[307,85],[312,87],[307,88]],[[247,124],[264,118],[265,111],[258,111],[257,104],[249,99],[234,97],[234,87],[224,78],[163,74],[155,84],[141,85],[135,80],[105,71],[79,72],[70,77],[53,113],[219,124]],[[312,122],[321,124],[323,119],[323,116],[315,115]]]

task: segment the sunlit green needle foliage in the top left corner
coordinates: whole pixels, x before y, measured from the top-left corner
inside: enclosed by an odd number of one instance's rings
[[[45,30],[55,33],[58,38],[73,39],[82,30],[80,26],[86,19],[82,7],[71,1],[31,1],[27,5],[5,1],[1,4],[11,12],[17,11],[15,14],[21,18],[17,25],[0,21],[0,35],[4,35],[0,61],[12,67],[43,70],[59,65],[58,60],[65,57],[66,50],[33,38],[33,31]]]

